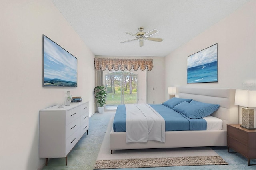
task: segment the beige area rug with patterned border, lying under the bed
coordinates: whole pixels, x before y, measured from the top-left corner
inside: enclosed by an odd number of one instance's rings
[[[210,147],[114,150],[110,153],[110,119],[94,169],[227,165]]]

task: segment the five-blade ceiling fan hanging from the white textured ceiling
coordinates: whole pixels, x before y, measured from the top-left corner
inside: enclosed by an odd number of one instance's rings
[[[124,41],[124,42],[121,42],[121,43],[125,43],[125,42],[130,42],[130,41],[133,41],[133,40],[139,40],[139,44],[140,44],[140,47],[143,46],[143,40],[150,40],[150,41],[155,41],[155,42],[162,42],[164,39],[162,38],[153,38],[153,37],[150,37],[156,33],[158,33],[159,31],[156,30],[156,29],[153,29],[149,32],[143,32],[143,27],[140,27],[138,30],[140,32],[137,32],[136,34],[132,34],[130,32],[124,32],[126,34],[130,34],[131,36],[134,36],[136,37],[135,39],[132,39],[132,40],[127,40],[127,41]]]

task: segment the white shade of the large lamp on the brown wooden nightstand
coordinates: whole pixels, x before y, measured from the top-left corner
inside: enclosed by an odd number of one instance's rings
[[[235,105],[256,107],[256,90],[236,90]]]

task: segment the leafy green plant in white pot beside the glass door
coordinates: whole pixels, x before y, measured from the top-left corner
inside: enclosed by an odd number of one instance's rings
[[[98,103],[98,112],[104,112],[104,105],[106,104],[107,92],[104,86],[96,86],[94,88],[94,95],[96,103]]]

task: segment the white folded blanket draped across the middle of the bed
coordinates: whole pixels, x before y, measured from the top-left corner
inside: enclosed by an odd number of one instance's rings
[[[148,104],[126,104],[126,142],[165,142],[165,121]]]

